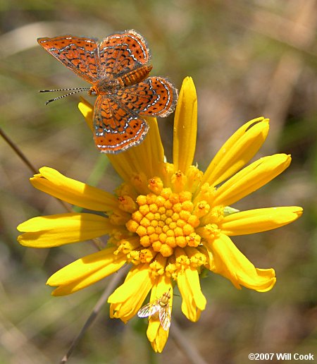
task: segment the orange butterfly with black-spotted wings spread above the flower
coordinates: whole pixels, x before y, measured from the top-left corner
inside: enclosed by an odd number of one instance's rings
[[[96,95],[94,142],[101,152],[118,153],[144,140],[149,125],[144,116],[168,116],[175,109],[178,90],[166,78],[148,77],[150,51],[142,35],[127,30],[102,42],[63,35],[37,42],[91,87],[63,90]],[[61,91],[42,90],[40,92]],[[66,97],[63,95],[46,102]]]

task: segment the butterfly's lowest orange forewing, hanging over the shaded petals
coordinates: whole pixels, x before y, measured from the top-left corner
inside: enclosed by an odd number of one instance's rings
[[[94,142],[100,152],[127,150],[144,139],[149,126],[116,100],[101,95],[94,105]]]

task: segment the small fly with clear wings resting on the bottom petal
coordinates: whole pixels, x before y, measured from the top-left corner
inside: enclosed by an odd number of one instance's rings
[[[137,315],[139,317],[150,317],[159,313],[159,320],[161,322],[161,326],[164,330],[168,330],[170,328],[170,291],[163,293],[161,298],[156,298],[156,300],[147,303],[142,308],[139,309]]]

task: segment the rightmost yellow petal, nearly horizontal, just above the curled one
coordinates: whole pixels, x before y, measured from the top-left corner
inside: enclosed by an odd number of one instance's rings
[[[228,236],[259,233],[290,224],[301,217],[302,213],[302,207],[298,206],[242,211],[224,217],[219,227]]]

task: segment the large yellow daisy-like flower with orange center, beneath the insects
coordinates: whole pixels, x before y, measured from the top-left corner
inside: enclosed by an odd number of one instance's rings
[[[80,111],[92,123],[92,106]],[[206,306],[199,274],[204,268],[232,284],[259,292],[275,284],[273,269],[259,269],[232,243],[230,236],[259,233],[293,222],[301,207],[270,207],[238,211],[231,207],[271,181],[290,165],[287,154],[254,157],[268,134],[268,119],[259,118],[238,129],[213,158],[205,172],[193,165],[197,133],[197,97],[185,78],[175,111],[173,164],[164,159],[156,119],[147,118],[147,138],[137,147],[108,155],[123,178],[116,195],[67,178],[43,167],[31,178],[33,186],[94,213],[35,217],[18,226],[25,246],[49,248],[108,235],[107,248],[82,257],[53,274],[47,284],[54,296],[74,293],[116,272],[126,263],[130,272],[108,298],[111,317],[127,322],[136,315],[149,291],[156,300],[178,285],[182,313],[197,321]],[[168,339],[156,315],[147,336],[161,352]]]

